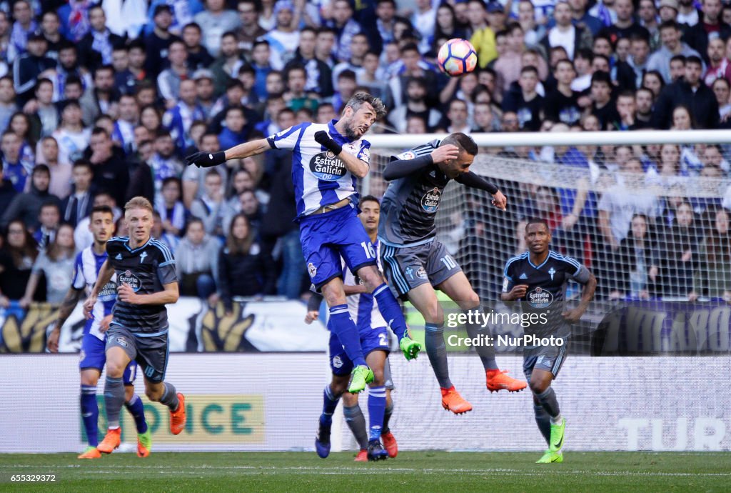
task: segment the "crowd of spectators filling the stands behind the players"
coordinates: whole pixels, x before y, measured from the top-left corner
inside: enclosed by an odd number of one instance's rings
[[[69,258],[91,244],[91,208],[118,219],[135,195],[154,203],[154,236],[178,257],[184,295],[227,307],[232,296],[298,298],[308,278],[289,152],[212,170],[183,157],[326,123],[357,91],[389,109],[371,132],[731,127],[729,23],[721,0],[0,0],[0,307],[57,302]],[[479,59],[460,78],[436,68],[453,37]],[[505,152],[668,187],[730,171],[719,146]],[[632,264],[613,296],[665,293],[656,270],[689,251],[728,270],[731,200],[649,203],[621,179],[601,196],[573,186],[514,200],[553,197],[543,212],[568,253],[584,257],[593,237],[595,253]],[[687,244],[697,214],[713,227]],[[656,225],[681,260],[645,247]],[[701,293],[697,268],[683,272],[685,294]]]

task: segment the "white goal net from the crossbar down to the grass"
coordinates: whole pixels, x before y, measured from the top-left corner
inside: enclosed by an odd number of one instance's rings
[[[382,170],[391,155],[439,137],[369,137],[373,158],[363,194],[382,197]],[[572,325],[569,358],[552,384],[570,424],[571,449],[729,450],[729,393],[717,383],[725,379],[731,354],[731,134],[474,138],[480,153],[471,171],[499,185],[507,211],[491,206],[486,192],[452,182],[436,225],[437,239],[460,263],[482,309],[508,309],[497,301],[503,269],[527,249],[528,218],[546,219],[551,249],[580,260],[598,280],[595,300],[581,323]],[[569,304],[579,296],[580,287],[569,285]],[[406,311],[418,333],[413,308]],[[490,328],[493,335],[522,331],[505,324]],[[474,407],[467,415],[442,410],[428,358],[389,358],[395,384],[390,426],[400,447],[541,450],[545,442],[529,392],[485,391],[474,350],[449,345],[450,334],[460,330],[447,325],[444,336],[452,383]],[[595,357],[607,355],[624,357]],[[497,361],[524,378],[520,350],[498,353]],[[366,412],[365,397],[360,404]],[[357,448],[338,421],[334,446]]]

